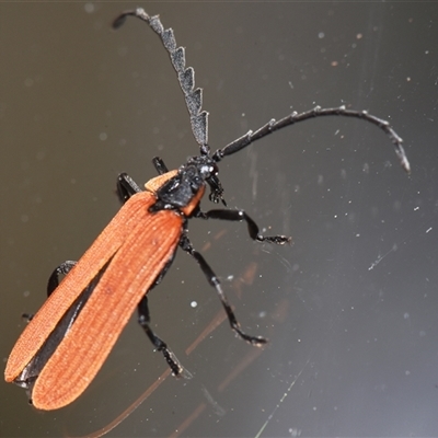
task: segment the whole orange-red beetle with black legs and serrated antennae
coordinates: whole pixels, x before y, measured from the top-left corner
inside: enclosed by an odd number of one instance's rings
[[[241,330],[218,277],[187,237],[188,219],[200,218],[245,221],[251,239],[256,242],[285,244],[291,241],[286,235],[263,235],[243,210],[200,209],[207,186],[209,199],[227,207],[218,177],[218,163],[224,157],[289,125],[321,116],[344,116],[364,119],[382,129],[393,142],[402,168],[407,173],[411,170],[402,139],[388,122],[344,106],[314,107],[278,122],[272,119],[211,153],[208,113],[201,110],[203,91],[195,89],[194,70],[185,67],[185,50],[176,46],[172,28],[164,30],[159,16],[149,16],[142,9],[122,13],[113,26],[119,27],[127,16],[148,23],[168,50],[185,97],[199,155],[172,171],[160,158],[153,158],[158,176],[148,181],[145,189],[122,173],[117,180],[117,194],[123,201],[120,210],[79,262],[64,262],[50,275],[48,299],[34,316],[28,316],[28,324],[13,347],[4,371],[5,380],[26,389],[30,401],[39,410],[66,406],[87,389],[136,308],[140,326],[163,354],[173,374],[188,377],[149,325],[148,292],[161,281],[178,246],[199,264],[237,335],[255,346],[267,342]]]

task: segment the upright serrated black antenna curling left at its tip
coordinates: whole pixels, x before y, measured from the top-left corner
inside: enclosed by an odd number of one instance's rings
[[[195,70],[192,67],[185,67],[184,47],[176,47],[173,30],[164,30],[159,15],[149,16],[141,8],[123,12],[113,22],[113,27],[120,27],[126,18],[129,15],[137,16],[138,19],[147,22],[161,37],[163,46],[168,50],[173,68],[178,77],[180,87],[184,93],[185,104],[187,105],[188,114],[191,116],[192,131],[197,143],[199,145],[200,154],[208,154],[208,113],[206,111],[201,111],[203,90],[199,88],[195,90]]]

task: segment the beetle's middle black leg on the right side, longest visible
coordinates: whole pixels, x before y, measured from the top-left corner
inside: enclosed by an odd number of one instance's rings
[[[242,332],[240,328],[240,324],[238,320],[235,319],[234,312],[231,309],[230,303],[228,302],[227,296],[222,290],[222,287],[220,286],[220,281],[216,274],[212,272],[210,266],[208,266],[208,263],[205,261],[205,258],[192,246],[192,242],[188,240],[186,235],[183,235],[180,241],[180,246],[187,252],[189,255],[192,255],[193,258],[199,264],[200,268],[203,269],[203,273],[205,274],[208,283],[216,289],[216,292],[219,296],[219,299],[223,306],[223,309],[227,312],[228,321],[230,322],[231,328],[244,341],[247,343],[255,345],[257,347],[262,346],[263,344],[267,343],[267,339],[261,336],[250,336],[246,333]]]

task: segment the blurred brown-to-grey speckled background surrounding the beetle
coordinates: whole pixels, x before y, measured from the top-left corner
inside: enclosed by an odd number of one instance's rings
[[[197,153],[157,35],[134,19],[111,30],[139,4],[186,47],[212,149],[273,117],[346,104],[390,120],[412,176],[381,130],[336,117],[227,158],[229,206],[293,244],[257,245],[244,224],[221,221],[192,220],[189,237],[242,327],[269,344],[256,349],[222,323],[186,354],[222,313],[178,252],[150,307],[194,379],[165,379],[110,436],[436,436],[435,3],[1,3],[3,361],[25,325],[21,313],[44,302],[53,268],[78,260],[119,208],[117,174],[142,184],[155,175],[153,155],[176,168]],[[24,391],[2,383],[0,435],[91,434],[165,369],[132,316],[70,406],[36,412]]]

